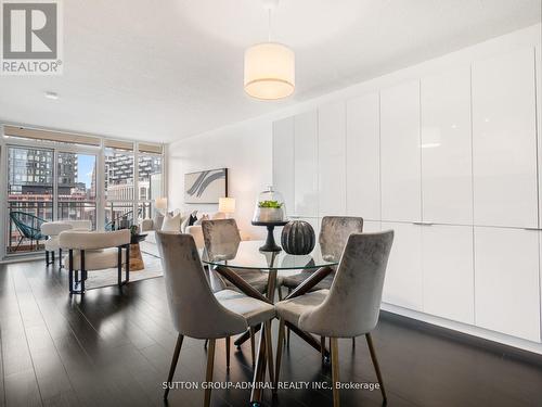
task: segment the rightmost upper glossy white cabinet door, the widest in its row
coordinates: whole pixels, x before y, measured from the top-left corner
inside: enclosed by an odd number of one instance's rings
[[[473,64],[474,221],[537,227],[534,54]]]

